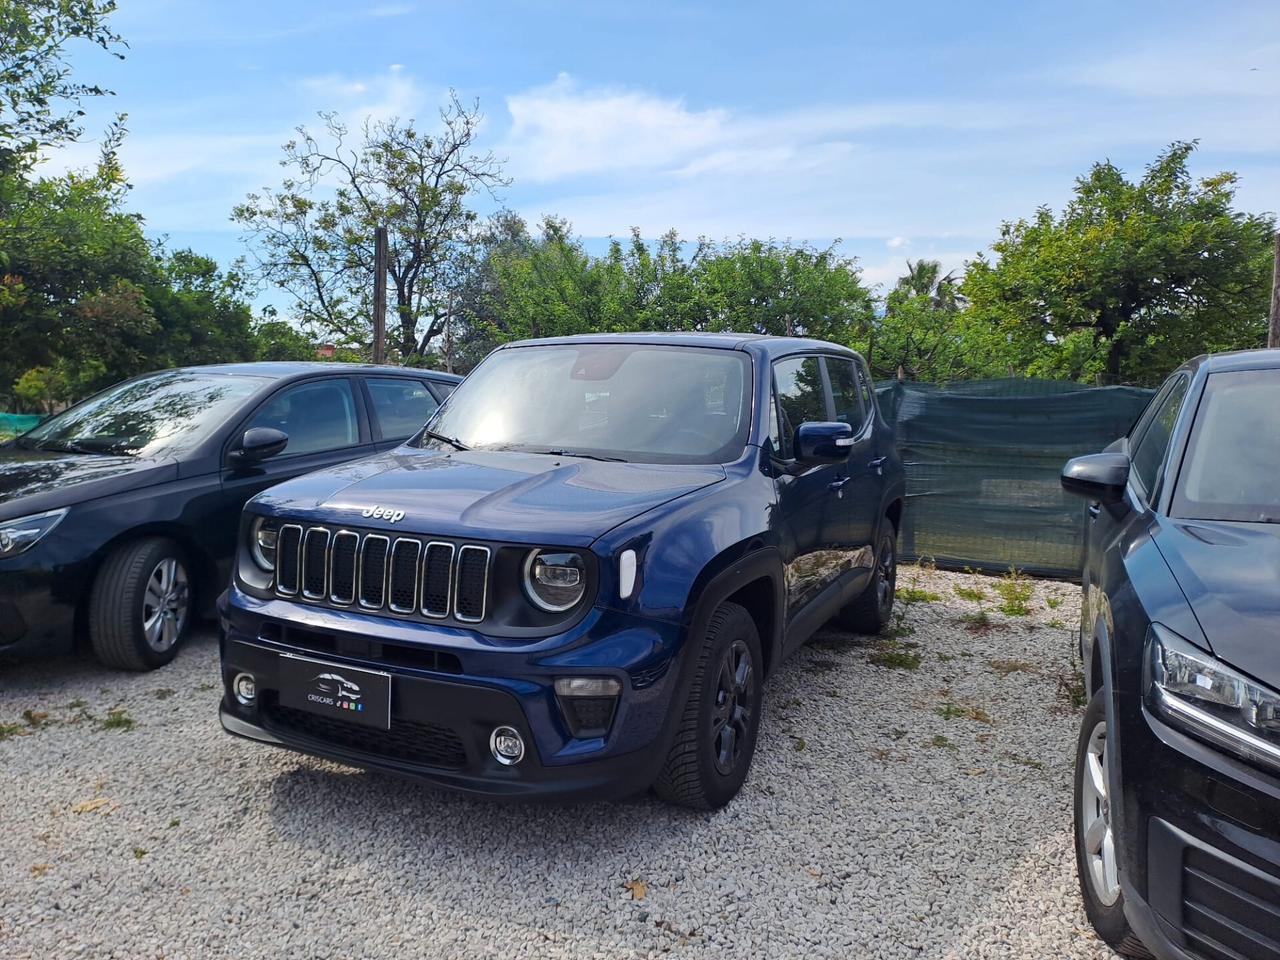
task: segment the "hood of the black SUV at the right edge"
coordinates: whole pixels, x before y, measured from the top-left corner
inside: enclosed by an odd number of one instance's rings
[[[1280,525],[1166,520],[1156,544],[1213,654],[1280,687]]]

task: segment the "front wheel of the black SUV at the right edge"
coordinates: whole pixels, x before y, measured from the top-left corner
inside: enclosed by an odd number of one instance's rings
[[[1084,709],[1075,750],[1075,867],[1084,913],[1114,950],[1124,956],[1149,957],[1124,915],[1117,863],[1120,844],[1111,809],[1120,803],[1107,773],[1106,695],[1098,690]]]

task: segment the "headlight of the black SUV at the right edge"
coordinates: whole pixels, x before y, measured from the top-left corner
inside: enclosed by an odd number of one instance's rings
[[[1280,771],[1280,694],[1165,627],[1147,639],[1147,707],[1201,740]]]

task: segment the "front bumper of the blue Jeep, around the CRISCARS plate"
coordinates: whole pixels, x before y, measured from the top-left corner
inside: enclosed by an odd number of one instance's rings
[[[493,797],[626,796],[646,788],[666,759],[669,709],[681,696],[680,628],[593,611],[573,631],[532,644],[476,631],[256,600],[234,588],[221,613],[223,727],[233,735],[339,763],[387,771]],[[390,730],[287,708],[285,653],[392,676]],[[232,695],[252,673],[256,703]],[[612,676],[622,695],[604,737],[576,739],[554,696],[557,676]],[[682,700],[680,700],[682,703]],[[524,759],[498,763],[490,733],[515,727]]]

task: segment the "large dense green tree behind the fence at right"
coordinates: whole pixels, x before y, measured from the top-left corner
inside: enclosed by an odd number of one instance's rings
[[[1096,164],[1060,216],[1004,225],[961,287],[1001,360],[1156,384],[1196,353],[1265,343],[1275,220],[1234,209],[1235,174],[1193,179],[1194,148],[1172,143],[1137,182]]]

